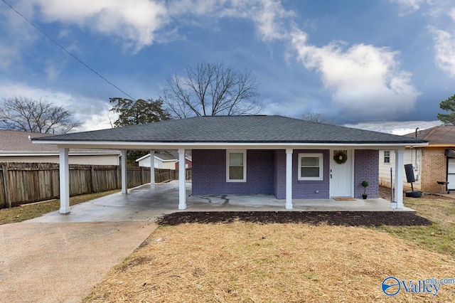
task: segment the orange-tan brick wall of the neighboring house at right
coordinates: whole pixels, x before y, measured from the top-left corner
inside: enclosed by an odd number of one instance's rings
[[[446,147],[426,147],[423,149],[421,169],[422,191],[428,193],[439,193],[441,191],[441,186],[437,184],[437,181],[446,181],[447,179],[447,158],[444,156],[445,150]]]

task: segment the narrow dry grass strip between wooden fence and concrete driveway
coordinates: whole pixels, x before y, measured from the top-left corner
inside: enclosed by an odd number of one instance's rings
[[[87,202],[95,198],[117,193],[118,191],[119,190],[105,191],[103,193],[89,193],[87,195],[70,197],[70,205],[73,206],[78,203]],[[59,199],[41,203],[24,204],[23,206],[15,206],[13,208],[3,208],[0,209],[0,225],[36,218],[45,213],[49,213],[50,211],[58,211],[59,208]]]

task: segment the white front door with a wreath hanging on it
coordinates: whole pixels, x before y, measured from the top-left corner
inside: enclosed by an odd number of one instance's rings
[[[336,159],[338,160],[338,163]],[[344,162],[344,163],[343,163]],[[331,150],[330,156],[330,196],[353,196],[353,152],[351,150]]]

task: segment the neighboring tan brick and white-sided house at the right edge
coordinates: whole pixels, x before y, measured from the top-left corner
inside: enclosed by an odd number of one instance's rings
[[[429,141],[426,147],[410,146],[405,150],[405,164],[412,164],[414,170],[414,189],[439,193],[441,185],[437,181],[449,181],[449,190],[455,191],[455,127],[441,125],[405,136]],[[389,150],[380,151],[379,164],[380,185],[390,186],[390,167],[395,169],[395,158]],[[406,190],[411,188],[406,176],[403,186]]]

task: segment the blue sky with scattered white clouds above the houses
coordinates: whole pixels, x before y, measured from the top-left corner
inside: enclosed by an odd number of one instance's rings
[[[438,0],[5,0],[134,98],[187,65],[251,70],[263,114],[317,112],[400,133],[437,124],[455,94],[455,3]],[[0,1],[0,98],[65,105],[109,127],[127,97]]]

